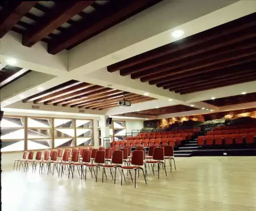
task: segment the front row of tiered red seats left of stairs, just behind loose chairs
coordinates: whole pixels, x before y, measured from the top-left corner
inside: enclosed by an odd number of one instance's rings
[[[150,147],[152,145],[159,146],[160,144],[166,144],[171,146],[181,146],[186,139],[182,137],[172,137],[172,138],[162,138],[162,139],[144,139],[144,140],[125,140],[125,141],[112,141],[110,143],[111,147],[118,146],[118,147]]]

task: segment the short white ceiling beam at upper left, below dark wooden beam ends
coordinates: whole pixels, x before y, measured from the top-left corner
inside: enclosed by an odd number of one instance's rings
[[[51,75],[68,73],[68,51],[56,55],[47,53],[47,44],[38,42],[32,47],[22,45],[22,35],[8,32],[0,43],[0,62],[8,58],[17,60],[16,66]]]

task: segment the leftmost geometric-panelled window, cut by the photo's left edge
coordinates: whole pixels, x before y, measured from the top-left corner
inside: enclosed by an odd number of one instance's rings
[[[25,118],[4,116],[1,121],[2,152],[25,150]]]

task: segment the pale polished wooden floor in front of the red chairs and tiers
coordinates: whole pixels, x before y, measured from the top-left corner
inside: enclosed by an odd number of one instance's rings
[[[3,167],[2,210],[256,210],[256,157],[176,158],[176,166],[159,180],[149,172],[147,185],[139,177],[136,189],[128,177],[120,186],[109,175],[102,184],[101,174],[96,183]]]

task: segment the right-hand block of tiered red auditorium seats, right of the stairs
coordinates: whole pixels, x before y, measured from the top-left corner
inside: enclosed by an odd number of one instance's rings
[[[256,138],[256,126],[245,128],[245,126],[214,128],[207,131],[206,136],[197,138],[198,146],[204,148],[220,148],[241,145],[254,145]]]

